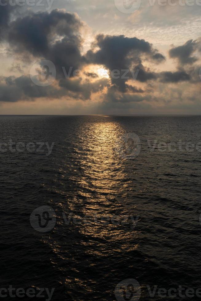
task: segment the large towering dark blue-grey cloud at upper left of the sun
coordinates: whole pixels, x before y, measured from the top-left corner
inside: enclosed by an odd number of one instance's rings
[[[81,21],[74,14],[53,10],[18,18],[10,23],[8,41],[15,53],[31,54],[54,63],[57,77],[72,66],[78,69],[85,59],[81,55]]]

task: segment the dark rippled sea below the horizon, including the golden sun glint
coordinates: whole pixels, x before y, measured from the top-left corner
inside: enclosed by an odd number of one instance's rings
[[[143,301],[201,299],[147,288],[201,287],[200,116],[0,116],[0,137],[54,143],[48,156],[0,151],[1,288],[116,300],[116,285],[136,279]],[[43,233],[30,215],[44,205],[56,224]],[[126,296],[117,300],[139,299]]]

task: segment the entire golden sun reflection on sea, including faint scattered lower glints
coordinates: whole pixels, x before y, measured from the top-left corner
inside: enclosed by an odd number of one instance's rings
[[[137,215],[136,206],[124,206],[122,197],[129,193],[134,177],[128,173],[127,160],[118,153],[125,129],[107,115],[77,127],[76,135],[70,138],[76,141],[71,154],[74,161],[69,162],[69,157],[64,160],[64,166],[59,168],[61,189],[55,191],[61,196],[69,194],[69,197],[65,202],[55,204],[58,207],[57,224],[49,239],[44,240],[58,262],[61,261],[59,269],[65,276],[68,294],[77,288],[93,293],[93,283],[83,277],[82,262],[86,261],[85,265],[93,268],[96,266],[94,257],[98,263],[108,257],[120,260],[137,250],[140,235],[130,220],[131,216]],[[64,184],[69,174],[76,187],[70,186],[72,191],[66,190]],[[84,197],[85,202],[75,193]],[[67,218],[72,214],[68,225],[61,211]],[[80,217],[80,222],[73,221],[73,218],[79,221]],[[54,259],[52,264],[57,265],[57,260]]]

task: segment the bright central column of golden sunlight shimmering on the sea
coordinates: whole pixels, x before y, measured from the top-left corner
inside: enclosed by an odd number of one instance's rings
[[[123,129],[119,123],[108,120],[109,116],[103,117],[103,122],[97,122],[89,128],[87,134],[89,152],[81,162],[85,168],[82,185],[92,189],[94,193],[94,198],[90,198],[89,205],[83,208],[82,213],[86,219],[93,215],[97,218],[81,227],[80,231],[85,236],[102,237],[108,241],[122,240],[123,242],[125,239],[124,229],[115,225],[115,221],[122,221],[124,215],[128,213],[125,212],[124,207],[118,210],[119,204],[115,204],[114,200],[108,197],[108,195],[116,196],[119,192],[122,193],[127,186],[127,183],[124,182],[126,179],[124,160],[119,158],[115,152],[120,143]],[[115,217],[114,223],[111,222],[112,217]],[[103,222],[100,222],[101,218]],[[104,220],[106,221],[105,225]],[[107,221],[110,221],[109,224]],[[128,234],[128,239],[129,235],[133,238],[135,231]],[[121,248],[124,247],[126,246],[123,243]],[[89,249],[88,252],[93,253],[94,251]]]

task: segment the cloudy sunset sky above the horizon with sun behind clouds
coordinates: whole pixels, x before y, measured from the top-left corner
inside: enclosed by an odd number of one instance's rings
[[[201,0],[0,0],[0,114],[201,114]]]

